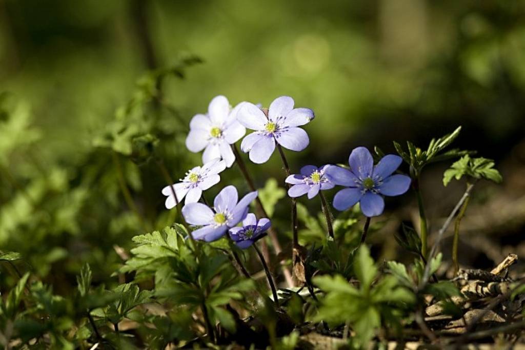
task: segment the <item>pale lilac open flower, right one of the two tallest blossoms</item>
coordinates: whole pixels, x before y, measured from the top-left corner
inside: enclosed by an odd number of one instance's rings
[[[246,136],[240,144],[243,152],[250,152],[252,162],[262,164],[268,161],[275,150],[275,142],[292,151],[302,151],[310,140],[306,131],[298,128],[313,118],[308,108],[293,108],[293,99],[278,97],[270,104],[268,117],[255,104],[246,102],[239,109],[237,120],[255,132]]]

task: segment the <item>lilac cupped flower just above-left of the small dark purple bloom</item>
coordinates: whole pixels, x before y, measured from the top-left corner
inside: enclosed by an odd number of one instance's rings
[[[224,236],[229,228],[246,217],[248,206],[255,197],[257,191],[248,193],[237,203],[237,189],[226,186],[215,197],[213,210],[202,203],[190,203],[182,208],[182,215],[188,224],[203,226],[192,232],[193,238],[211,242]]]

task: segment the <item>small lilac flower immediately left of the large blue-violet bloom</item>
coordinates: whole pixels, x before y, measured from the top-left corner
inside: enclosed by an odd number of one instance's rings
[[[306,165],[301,168],[300,174],[290,175],[286,178],[286,183],[293,186],[288,189],[290,197],[300,197],[308,193],[308,199],[317,196],[320,189],[330,189],[335,185],[327,175],[326,169],[330,165],[320,168],[313,165]]]

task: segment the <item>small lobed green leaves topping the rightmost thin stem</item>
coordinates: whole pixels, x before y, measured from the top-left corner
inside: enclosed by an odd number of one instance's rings
[[[459,180],[466,176],[472,179],[485,178],[495,183],[500,183],[503,178],[494,168],[494,161],[487,158],[471,158],[468,154],[454,162],[443,174],[443,185],[448,185],[452,178]]]

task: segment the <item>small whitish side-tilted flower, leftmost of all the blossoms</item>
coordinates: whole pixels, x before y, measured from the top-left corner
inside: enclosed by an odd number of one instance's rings
[[[218,175],[226,169],[226,164],[220,158],[201,166],[196,166],[186,173],[186,176],[181,179],[182,182],[173,184],[175,195],[179,203],[186,196],[186,204],[195,203],[201,199],[202,192],[220,181]],[[162,189],[162,194],[168,196],[166,198],[166,208],[171,209],[175,206],[175,198],[173,197],[172,186],[166,186]]]

